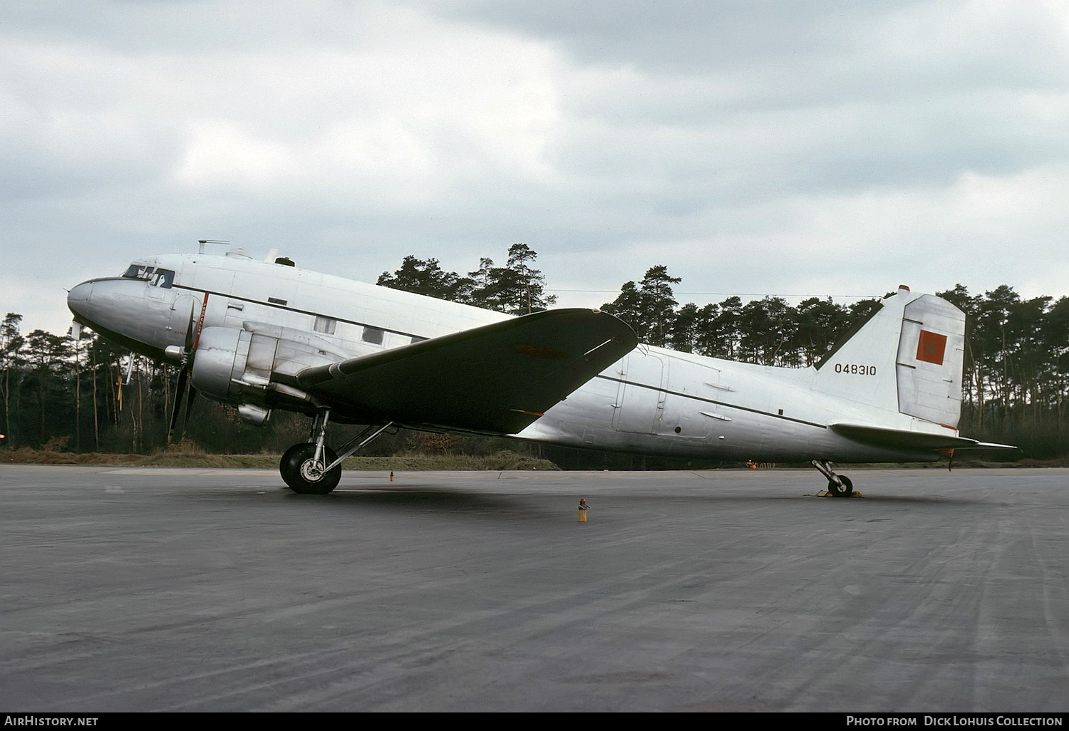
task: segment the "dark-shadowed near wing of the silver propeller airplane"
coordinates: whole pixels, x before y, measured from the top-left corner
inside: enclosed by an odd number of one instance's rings
[[[547,310],[308,368],[296,383],[369,422],[514,434],[637,344],[608,313]]]

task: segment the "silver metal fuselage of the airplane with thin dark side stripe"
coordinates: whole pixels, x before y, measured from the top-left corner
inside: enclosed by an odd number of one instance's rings
[[[901,296],[908,297],[904,292]],[[299,341],[299,356],[294,356],[291,370],[510,317],[255,261],[235,251],[139,260],[123,277],[75,286],[68,304],[81,323],[158,360],[181,359],[179,352],[195,333],[208,328],[236,332],[269,328]],[[957,434],[956,418],[950,424],[932,423],[900,411],[890,398],[871,403],[858,395],[886,388],[886,379],[893,377],[887,371],[896,368],[894,356],[889,363],[831,362],[818,372],[812,367],[773,368],[639,345],[511,436],[726,461],[935,458],[931,450],[863,444],[831,429],[850,422]],[[871,388],[858,390],[857,384],[866,380]]]

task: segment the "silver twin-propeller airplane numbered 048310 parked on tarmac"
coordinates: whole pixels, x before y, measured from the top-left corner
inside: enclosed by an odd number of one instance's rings
[[[272,409],[311,417],[309,440],[279,466],[297,493],[332,491],[342,460],[393,425],[810,462],[837,497],[853,484],[835,463],[1003,447],[958,433],[964,313],[905,286],[809,368],[639,344],[598,310],[513,317],[204,242],[196,254],[141,259],[120,277],[82,282],[67,306],[104,338],[181,363],[171,434],[190,386],[250,423]],[[370,426],[336,452],[326,444],[331,421]]]

